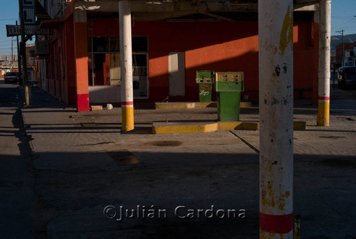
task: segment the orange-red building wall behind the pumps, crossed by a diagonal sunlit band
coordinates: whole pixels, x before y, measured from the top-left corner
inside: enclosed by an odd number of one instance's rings
[[[318,30],[311,21],[294,23],[295,97],[313,97],[315,58],[318,59],[315,31]],[[88,30],[88,36],[118,34],[118,23],[110,18],[93,20],[93,28]],[[151,101],[162,101],[169,95],[168,53],[174,51],[184,51],[186,55],[186,97],[183,100],[198,100],[197,70],[243,71],[243,95],[258,98],[257,22],[135,22],[132,35],[148,36]],[[171,97],[170,100],[182,98]]]

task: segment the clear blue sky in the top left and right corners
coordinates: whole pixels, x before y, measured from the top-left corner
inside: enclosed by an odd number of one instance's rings
[[[331,12],[331,35],[345,30],[345,35],[356,33],[356,0],[333,0]],[[11,54],[11,39],[6,37],[6,25],[14,25],[19,18],[19,1],[0,0],[0,55]],[[356,39],[355,39],[356,40]],[[14,42],[14,47],[16,43]],[[14,48],[14,52],[16,52]]]

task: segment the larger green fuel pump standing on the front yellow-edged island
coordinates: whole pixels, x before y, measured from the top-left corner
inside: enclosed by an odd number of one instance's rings
[[[218,120],[239,121],[241,91],[244,91],[244,73],[217,72],[215,79]]]

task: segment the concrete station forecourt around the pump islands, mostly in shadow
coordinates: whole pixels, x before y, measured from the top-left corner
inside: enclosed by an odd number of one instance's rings
[[[356,238],[354,95],[332,91],[330,127],[316,127],[315,107],[296,101],[295,121],[308,125],[294,132],[301,238]],[[21,110],[48,238],[258,238],[258,131],[152,134],[152,122],[214,121],[209,107],[135,110],[135,132],[123,134],[120,108],[79,113],[37,88],[32,99]],[[258,108],[241,109],[241,121],[258,122]],[[118,221],[120,206],[141,215]],[[197,218],[199,208],[246,217]],[[194,218],[179,218],[187,209]]]

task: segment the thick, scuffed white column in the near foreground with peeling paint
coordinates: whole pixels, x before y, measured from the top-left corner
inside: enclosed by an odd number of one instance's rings
[[[260,238],[293,238],[293,0],[258,1]]]

